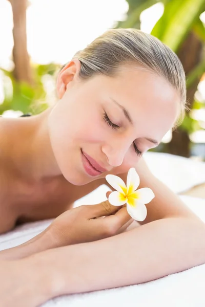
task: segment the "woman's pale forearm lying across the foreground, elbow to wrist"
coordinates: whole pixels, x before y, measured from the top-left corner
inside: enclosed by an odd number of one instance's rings
[[[146,282],[203,264],[204,235],[202,222],[171,217],[97,242],[35,254],[27,262],[46,276],[40,289],[49,299]]]

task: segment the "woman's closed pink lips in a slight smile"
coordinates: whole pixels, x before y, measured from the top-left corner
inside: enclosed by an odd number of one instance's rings
[[[107,169],[101,167],[93,158],[91,158],[87,153],[83,152],[81,149],[81,158],[83,162],[84,169],[86,172],[92,176],[99,176],[101,173],[107,171]]]

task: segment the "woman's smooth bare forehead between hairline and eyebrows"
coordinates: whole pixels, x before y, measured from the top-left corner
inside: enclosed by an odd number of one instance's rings
[[[174,87],[165,78],[138,68],[121,70],[109,81],[111,98],[128,110],[134,126],[161,140],[179,111],[180,97]]]

